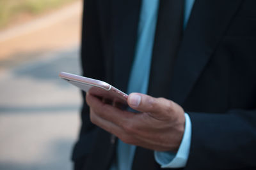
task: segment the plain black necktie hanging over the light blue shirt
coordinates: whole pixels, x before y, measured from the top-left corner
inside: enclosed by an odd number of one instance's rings
[[[182,38],[183,14],[184,1],[161,0],[159,2],[151,76],[148,83],[150,96],[168,97],[173,64]],[[164,76],[165,74],[170,77]],[[159,169],[152,150],[136,148],[132,170],[140,169]]]

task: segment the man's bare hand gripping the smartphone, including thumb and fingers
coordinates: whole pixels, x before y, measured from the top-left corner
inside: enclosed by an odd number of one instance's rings
[[[179,104],[164,98],[132,93],[128,104],[141,113],[124,111],[103,103],[99,98],[86,94],[93,124],[115,134],[131,145],[156,151],[177,152],[185,128],[184,110]]]

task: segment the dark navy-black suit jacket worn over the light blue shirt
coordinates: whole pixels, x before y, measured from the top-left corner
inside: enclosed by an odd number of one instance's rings
[[[140,6],[138,0],[85,1],[84,76],[127,89]],[[152,66],[164,66],[156,56]],[[256,1],[196,0],[172,73],[151,72],[150,80],[171,78],[170,92],[161,97],[180,104],[191,118],[184,169],[256,169]],[[154,87],[150,95],[160,97]],[[72,159],[85,169],[107,169],[115,155],[111,135],[90,122],[86,103],[81,120]]]

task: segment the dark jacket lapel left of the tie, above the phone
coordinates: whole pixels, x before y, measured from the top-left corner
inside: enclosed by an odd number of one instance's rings
[[[141,1],[113,1],[114,84],[127,90],[137,41]]]

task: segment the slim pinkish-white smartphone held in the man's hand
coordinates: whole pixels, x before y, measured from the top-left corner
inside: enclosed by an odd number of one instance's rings
[[[60,78],[67,80],[68,83],[71,83],[79,89],[84,90],[84,92],[87,92],[91,89],[90,93],[94,96],[99,96],[103,99],[109,99],[118,103],[127,104],[128,95],[104,81],[65,72],[61,72],[59,76]]]

